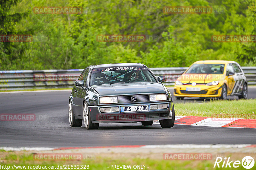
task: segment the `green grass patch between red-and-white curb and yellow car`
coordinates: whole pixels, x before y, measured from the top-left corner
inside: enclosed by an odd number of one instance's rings
[[[183,116],[256,118],[256,99],[213,100],[203,103],[175,103],[175,114]]]

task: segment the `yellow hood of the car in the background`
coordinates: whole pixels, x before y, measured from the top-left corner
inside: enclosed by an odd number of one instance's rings
[[[224,74],[182,74],[177,80],[182,83],[209,83],[224,80]]]

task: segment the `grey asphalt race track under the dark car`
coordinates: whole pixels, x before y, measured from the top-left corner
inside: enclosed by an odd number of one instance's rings
[[[0,147],[256,144],[256,129],[247,128],[175,124],[173,128],[162,129],[160,124],[142,126],[140,123],[100,124],[98,130],[86,130],[84,124],[81,128],[71,128],[69,95],[70,91],[0,93],[0,114],[36,115],[35,121],[0,121]],[[249,98],[256,98],[255,87],[249,88]],[[186,101],[194,99],[182,102]]]

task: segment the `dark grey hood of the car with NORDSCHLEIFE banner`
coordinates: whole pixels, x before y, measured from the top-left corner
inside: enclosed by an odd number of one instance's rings
[[[91,86],[100,96],[165,93],[160,83],[118,83]]]

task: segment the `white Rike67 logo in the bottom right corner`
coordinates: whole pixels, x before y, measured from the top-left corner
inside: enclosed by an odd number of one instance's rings
[[[228,159],[225,157],[222,159],[221,157],[217,157],[214,163],[214,168],[217,166],[222,168],[238,168],[239,166],[243,166],[245,169],[251,169],[254,166],[254,159],[251,156],[245,156],[242,161],[240,160],[230,160],[230,157]]]

